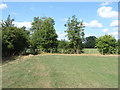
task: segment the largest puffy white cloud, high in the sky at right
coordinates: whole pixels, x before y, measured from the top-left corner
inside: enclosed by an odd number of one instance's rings
[[[106,7],[102,6],[97,11],[98,15],[103,18],[112,18],[112,17],[118,17],[118,12],[113,11],[112,7]]]

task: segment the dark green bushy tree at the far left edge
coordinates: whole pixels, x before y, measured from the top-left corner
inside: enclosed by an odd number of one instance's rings
[[[9,15],[6,21],[2,20],[0,23],[3,56],[17,55],[29,45],[29,31],[25,30],[25,27],[14,26],[13,21]]]

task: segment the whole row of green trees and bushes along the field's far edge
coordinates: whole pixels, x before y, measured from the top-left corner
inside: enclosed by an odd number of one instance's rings
[[[34,17],[32,27],[27,30],[26,27],[18,28],[13,24],[14,19],[1,21],[2,30],[2,55],[12,56],[20,54],[38,54],[38,53],[83,53],[84,48],[98,48],[101,54],[120,53],[120,40],[110,35],[99,38],[90,36],[84,38],[83,21],[78,21],[75,15],[68,18],[64,25],[67,29],[68,41],[57,40],[58,35],[54,28],[55,21],[50,17]]]

